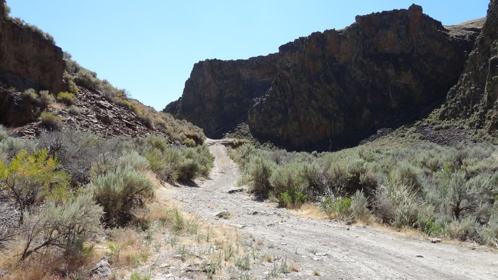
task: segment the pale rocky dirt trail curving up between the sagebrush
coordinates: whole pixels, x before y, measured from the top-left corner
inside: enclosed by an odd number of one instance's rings
[[[198,187],[182,187],[188,190],[178,192],[185,210],[214,223],[217,213],[230,211],[232,218],[218,222],[244,225],[241,232],[264,240],[264,251],[302,268],[285,279],[498,279],[498,254],[483,248],[432,244],[371,227],[346,227],[291,215],[244,192],[229,194],[240,171],[219,140],[207,140],[207,144],[216,156],[215,167]],[[327,255],[315,256],[309,252],[312,248],[317,255]],[[267,270],[261,266],[253,272],[261,277]],[[314,270],[320,276],[314,276]]]

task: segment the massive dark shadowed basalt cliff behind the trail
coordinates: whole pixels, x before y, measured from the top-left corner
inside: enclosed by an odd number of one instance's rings
[[[417,5],[357,16],[276,54],[199,62],[165,111],[210,137],[246,121],[259,140],[293,149],[352,145],[441,102],[481,22],[443,26]]]

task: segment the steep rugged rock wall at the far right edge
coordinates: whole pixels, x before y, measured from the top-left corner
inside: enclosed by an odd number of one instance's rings
[[[498,133],[498,0],[489,5],[486,22],[440,118],[464,119],[473,128]]]

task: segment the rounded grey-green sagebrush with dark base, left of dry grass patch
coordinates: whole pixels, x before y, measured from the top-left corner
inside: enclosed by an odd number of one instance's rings
[[[132,208],[154,196],[153,184],[146,174],[129,167],[96,177],[89,188],[104,207],[104,220],[108,226],[126,224]]]

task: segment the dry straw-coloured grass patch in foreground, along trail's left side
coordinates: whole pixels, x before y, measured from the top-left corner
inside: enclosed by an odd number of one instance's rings
[[[148,258],[139,266],[157,259],[158,251],[154,251],[154,246],[160,248],[162,255],[171,256],[161,259],[161,263],[180,266],[188,262],[201,266],[203,260],[207,260],[220,266],[217,275],[223,275],[223,268],[233,267],[236,258],[247,255],[248,246],[236,228],[224,224],[213,225],[201,221],[196,215],[183,212],[181,205],[171,199],[177,188],[162,185],[153,174],[148,176],[155,185],[154,200],[135,214],[133,227],[116,230],[110,238],[111,247],[119,245],[122,248],[110,260],[113,267],[121,269],[122,275],[136,270],[134,260],[142,255]],[[138,231],[140,227],[146,228],[145,231]],[[157,248],[155,250],[159,250]],[[182,257],[173,258],[175,255]]]

